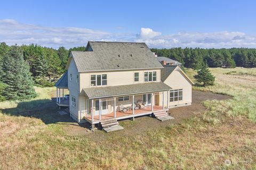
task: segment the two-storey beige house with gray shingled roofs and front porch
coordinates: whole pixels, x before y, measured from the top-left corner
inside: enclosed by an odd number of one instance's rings
[[[165,117],[191,104],[193,82],[178,65],[162,66],[145,43],[89,41],[85,52],[70,53],[66,69],[55,84],[57,105],[78,123]]]

